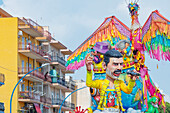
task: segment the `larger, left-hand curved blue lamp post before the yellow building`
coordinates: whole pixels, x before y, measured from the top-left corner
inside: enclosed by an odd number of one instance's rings
[[[16,87],[18,86],[18,84],[19,84],[19,83],[23,80],[23,78],[26,77],[28,74],[30,74],[31,72],[33,72],[33,71],[35,71],[35,70],[38,70],[38,69],[46,66],[46,65],[49,65],[49,63],[42,64],[40,67],[37,67],[37,68],[29,71],[27,74],[25,74],[25,75],[17,82],[17,84],[15,85],[15,87],[14,87],[14,89],[13,89],[13,91],[12,91],[11,98],[10,98],[10,113],[12,113],[12,98],[13,98],[14,91],[15,91]]]

